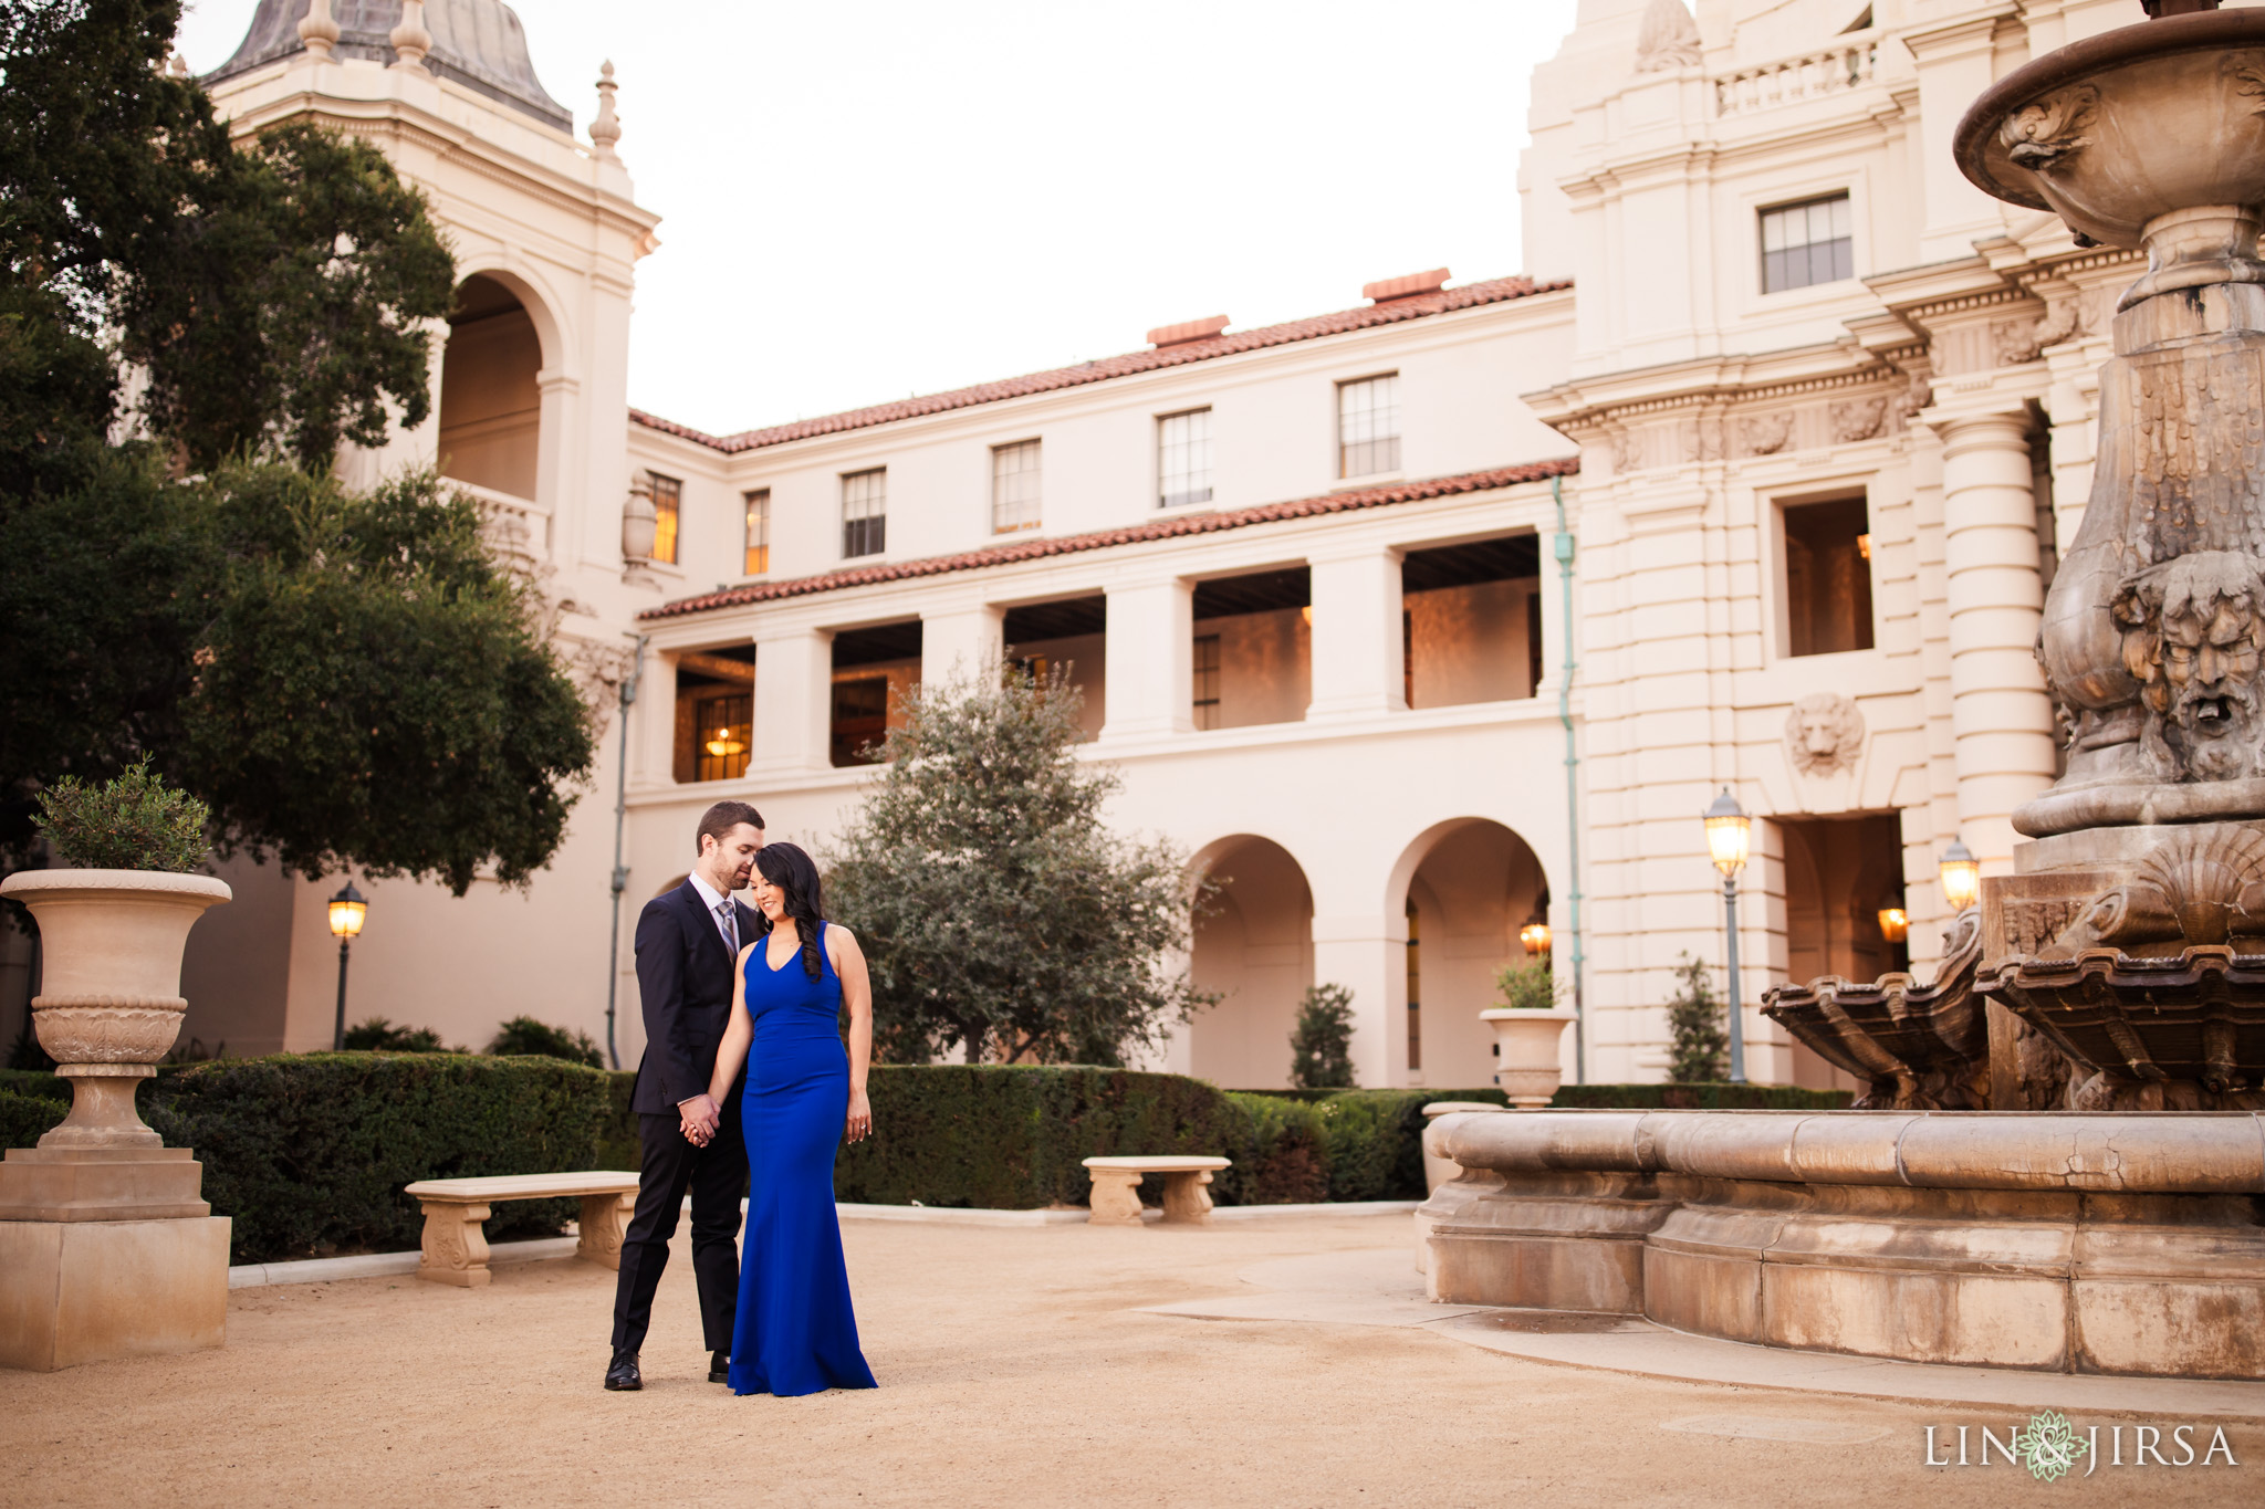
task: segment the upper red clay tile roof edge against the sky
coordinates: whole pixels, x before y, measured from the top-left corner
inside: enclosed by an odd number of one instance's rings
[[[786,441],[806,441],[818,434],[840,434],[843,430],[886,425],[899,419],[920,419],[922,414],[945,414],[949,409],[967,409],[978,403],[999,403],[1001,398],[1026,398],[1031,394],[1051,394],[1062,387],[1083,387],[1087,382],[1128,378],[1137,371],[1157,371],[1160,367],[1207,362],[1212,357],[1237,355],[1241,351],[1264,351],[1266,346],[1287,346],[1291,342],[1309,342],[1323,335],[1345,335],[1348,330],[1391,326],[1400,324],[1402,319],[1422,319],[1427,314],[1470,310],[1481,303],[1504,303],[1506,299],[1527,299],[1529,294],[1554,294],[1567,287],[1572,287],[1570,278],[1561,278],[1556,283],[1536,283],[1533,278],[1520,276],[1520,278],[1493,278],[1488,283],[1465,283],[1461,287],[1447,287],[1434,294],[1422,294],[1418,299],[1393,299],[1391,303],[1370,303],[1357,310],[1339,310],[1336,314],[1293,319],[1287,326],[1234,330],[1230,335],[1214,335],[1212,339],[1164,346],[1162,351],[1132,351],[1126,355],[1103,357],[1099,362],[1055,367],[1053,371],[1033,371],[1026,378],[1006,378],[1003,382],[981,382],[976,387],[951,389],[949,394],[929,394],[924,398],[879,403],[870,409],[849,409],[847,414],[824,414],[820,419],[797,419],[790,425],[770,425],[768,430],[741,430],[738,434],[704,434],[700,430],[693,430],[691,425],[680,425],[673,419],[661,419],[659,414],[646,414],[643,409],[630,409],[630,419],[646,425],[648,430],[659,430],[661,434],[675,434],[680,439],[695,441],[700,446],[709,446],[713,450],[732,455],[738,450],[761,450],[763,446],[784,446]]]

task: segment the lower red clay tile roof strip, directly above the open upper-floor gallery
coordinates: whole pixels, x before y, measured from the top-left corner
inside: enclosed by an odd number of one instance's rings
[[[750,581],[720,593],[680,597],[657,609],[639,613],[639,622],[652,618],[684,618],[686,613],[709,613],[713,609],[738,609],[750,602],[777,602],[781,597],[809,597],[813,593],[838,593],[849,586],[874,586],[879,581],[911,581],[915,577],[942,577],[956,570],[981,570],[983,566],[1008,566],[1012,561],[1040,561],[1055,554],[1078,554],[1083,550],[1108,550],[1110,545],[1139,545],[1146,541],[1169,541],[1182,534],[1216,534],[1219,529],[1243,529],[1248,525],[1271,525],[1282,518],[1314,518],[1318,514],[1350,514],[1354,509],[1382,509],[1393,502],[1422,502],[1425,498],[1454,498],[1459,493],[1484,493],[1518,482],[1542,482],[1547,477],[1570,477],[1581,471],[1581,457],[1554,457],[1549,462],[1527,462],[1524,466],[1495,466],[1490,471],[1465,471],[1459,477],[1431,477],[1427,482],[1395,482],[1393,486],[1364,486],[1323,498],[1298,498],[1296,502],[1268,502],[1232,514],[1185,514],[1160,518],[1148,525],[1126,529],[1096,529],[1092,534],[1065,534],[1053,541],[1022,541],[1017,545],[992,545],[990,550],[967,550],[960,554],[929,557],[924,561],[895,561],[890,566],[849,566],[818,577],[795,577],[793,581]]]

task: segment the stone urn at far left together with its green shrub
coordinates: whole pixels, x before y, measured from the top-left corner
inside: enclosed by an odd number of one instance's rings
[[[138,1084],[181,1036],[181,950],[229,887],[195,871],[206,805],[136,765],[109,785],[63,781],[39,796],[39,830],[66,869],[18,871],[0,896],[39,923],[32,1029],[72,1084],[70,1118],[41,1147],[161,1147],[134,1109]]]

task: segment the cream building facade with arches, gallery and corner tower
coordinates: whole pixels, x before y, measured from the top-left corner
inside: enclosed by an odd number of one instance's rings
[[[1828,1084],[1760,991],[1925,973],[1941,851],[2011,869],[2061,751],[2032,643],[2136,265],[1971,188],[1950,131],[2127,0],[1583,0],[1533,77],[1527,274],[1348,278],[1336,314],[727,437],[627,405],[657,219],[609,93],[578,143],[505,7],[428,5],[421,66],[399,9],[337,7],[317,59],[306,2],[272,0],[215,97],[376,140],[430,195],[464,274],[435,419],[356,464],[437,459],[593,704],[639,695],[530,891],[362,885],[356,1020],[600,1034],[618,941],[634,1063],[625,934],[698,812],[750,799],[822,853],[890,695],[999,661],[1062,667],[1112,821],[1228,882],[1189,959],[1223,1002],[1164,1059],[1221,1084],[1284,1084],[1316,982],[1354,993],[1361,1084],[1484,1084],[1477,1011],[1533,919],[1567,986],[1579,941],[1567,1070],[1658,1079],[1672,971],[1721,959],[1719,790],[1758,819],[1749,1072]],[[190,1032],[324,1045],[333,882],[226,876]]]

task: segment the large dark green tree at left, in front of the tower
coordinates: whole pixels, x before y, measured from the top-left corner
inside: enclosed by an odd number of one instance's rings
[[[374,147],[231,143],[177,23],[0,2],[0,862],[149,758],[224,851],[523,880],[591,762],[539,604],[435,477],[331,473],[424,421],[453,260]]]

